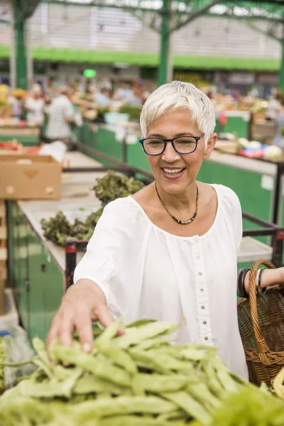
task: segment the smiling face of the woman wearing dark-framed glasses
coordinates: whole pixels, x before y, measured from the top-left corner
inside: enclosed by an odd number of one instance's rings
[[[177,136],[200,136],[201,134],[196,124],[190,121],[189,111],[177,109],[153,121],[148,126],[147,137],[172,139]],[[195,182],[202,160],[210,157],[216,141],[217,134],[212,133],[206,151],[204,151],[204,138],[201,138],[197,142],[196,150],[190,154],[177,153],[172,144],[167,143],[161,155],[147,155],[155,180],[169,194],[184,192],[192,182]],[[178,173],[170,174],[170,170],[178,170]]]

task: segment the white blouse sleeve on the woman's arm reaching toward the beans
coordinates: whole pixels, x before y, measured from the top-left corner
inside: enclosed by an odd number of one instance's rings
[[[102,288],[114,317],[121,315],[120,300],[125,296],[121,283],[124,283],[126,260],[133,246],[132,224],[125,199],[107,204],[74,273],[74,283],[87,278]]]

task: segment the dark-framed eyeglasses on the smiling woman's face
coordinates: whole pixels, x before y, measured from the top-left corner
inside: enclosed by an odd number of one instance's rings
[[[147,155],[163,154],[166,144],[169,142],[177,153],[191,154],[195,152],[197,142],[200,141],[203,136],[205,136],[205,133],[202,133],[200,136],[178,136],[178,138],[173,139],[145,138],[141,139],[139,142]]]

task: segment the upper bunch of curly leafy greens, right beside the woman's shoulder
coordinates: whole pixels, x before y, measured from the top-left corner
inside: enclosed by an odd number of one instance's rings
[[[109,170],[104,178],[97,178],[97,184],[92,190],[96,197],[102,202],[102,207],[120,197],[128,197],[143,188],[140,180],[127,178],[125,175]]]

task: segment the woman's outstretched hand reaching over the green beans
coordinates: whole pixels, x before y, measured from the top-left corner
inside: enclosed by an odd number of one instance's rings
[[[59,339],[61,344],[71,346],[72,333],[76,329],[82,349],[91,351],[94,321],[108,327],[114,319],[109,314],[102,289],[91,280],[82,279],[72,285],[62,297],[60,308],[48,333],[47,344]]]

